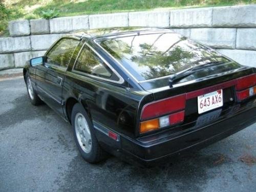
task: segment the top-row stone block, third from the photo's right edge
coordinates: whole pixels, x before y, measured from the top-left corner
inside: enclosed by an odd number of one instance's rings
[[[169,28],[169,14],[169,11],[130,12],[129,26]]]

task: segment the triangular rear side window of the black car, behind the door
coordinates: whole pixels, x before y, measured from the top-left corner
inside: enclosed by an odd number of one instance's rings
[[[86,45],[80,51],[74,70],[103,78],[111,78],[113,74],[104,61]]]

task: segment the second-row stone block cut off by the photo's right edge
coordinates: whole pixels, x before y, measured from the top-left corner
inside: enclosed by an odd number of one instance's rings
[[[237,29],[237,49],[256,50],[255,28]]]

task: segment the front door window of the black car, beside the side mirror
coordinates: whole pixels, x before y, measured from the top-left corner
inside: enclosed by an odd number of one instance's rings
[[[46,62],[51,65],[67,68],[78,43],[79,40],[72,38],[60,39],[47,53]]]

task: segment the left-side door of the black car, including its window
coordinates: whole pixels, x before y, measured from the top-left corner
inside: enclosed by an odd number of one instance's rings
[[[46,53],[44,66],[47,68],[44,91],[46,92],[45,102],[56,112],[62,111],[62,84],[70,58],[79,44],[75,38],[61,38]]]

